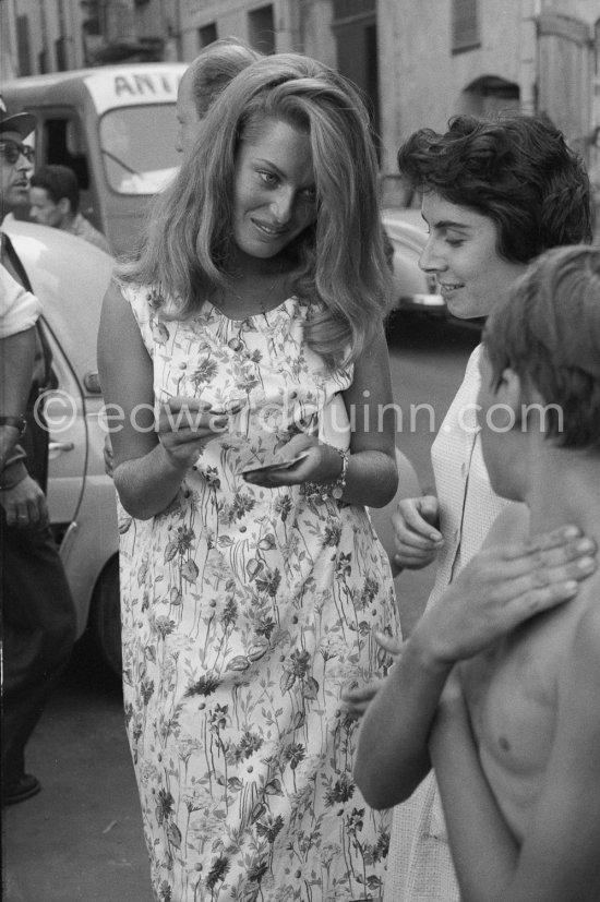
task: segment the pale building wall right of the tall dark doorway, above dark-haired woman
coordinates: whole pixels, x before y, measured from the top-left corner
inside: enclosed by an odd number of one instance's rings
[[[597,166],[600,0],[380,0],[383,22],[387,151],[458,112],[516,109],[549,116]],[[384,170],[392,166],[386,157]]]

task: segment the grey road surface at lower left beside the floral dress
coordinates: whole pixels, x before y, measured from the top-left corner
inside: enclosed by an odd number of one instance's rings
[[[28,745],[43,791],[2,810],[4,902],[152,902],[120,687],[86,658]]]

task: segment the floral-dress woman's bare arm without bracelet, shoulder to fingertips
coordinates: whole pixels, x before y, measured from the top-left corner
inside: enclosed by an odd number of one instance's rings
[[[115,485],[125,510],[148,519],[170,504],[202,445],[224,423],[204,417],[202,405],[184,398],[172,398],[170,410],[163,410],[155,422],[152,360],[131,306],[116,285],[105,297],[98,370],[113,448]],[[189,418],[183,416],[178,425],[178,414],[185,411]]]

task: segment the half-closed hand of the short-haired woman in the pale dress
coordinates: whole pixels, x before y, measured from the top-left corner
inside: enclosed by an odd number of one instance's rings
[[[403,498],[392,517],[396,553],[392,558],[395,575],[401,569],[427,567],[444,544],[440,532],[440,507],[435,495]]]

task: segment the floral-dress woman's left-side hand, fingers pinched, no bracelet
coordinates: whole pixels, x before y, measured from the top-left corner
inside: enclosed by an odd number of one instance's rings
[[[228,425],[227,413],[215,411],[196,398],[176,395],[161,406],[156,431],[170,462],[189,469],[196,462],[204,445],[226,432]]]

